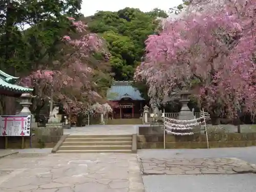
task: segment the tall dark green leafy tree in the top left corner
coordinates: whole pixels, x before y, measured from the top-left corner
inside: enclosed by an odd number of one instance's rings
[[[34,67],[34,62],[37,65],[37,62],[43,60],[46,55],[50,58],[54,54],[53,47],[57,45],[55,40],[60,41],[62,32],[70,29],[67,16],[79,16],[80,5],[80,0],[2,1],[0,3],[1,69],[15,76]],[[33,27],[41,25],[44,26],[43,31]],[[25,26],[33,29],[24,34]],[[45,52],[43,53],[42,50]],[[5,97],[4,101],[8,103],[5,113],[15,113],[14,99]]]

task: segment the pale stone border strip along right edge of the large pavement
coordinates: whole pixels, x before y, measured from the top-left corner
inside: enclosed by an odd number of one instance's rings
[[[137,158],[129,161],[129,192],[145,192]]]

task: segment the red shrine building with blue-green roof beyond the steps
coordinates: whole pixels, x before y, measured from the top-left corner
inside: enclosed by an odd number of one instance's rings
[[[108,90],[108,100],[112,104],[114,119],[140,118],[145,105],[133,81],[114,81]]]

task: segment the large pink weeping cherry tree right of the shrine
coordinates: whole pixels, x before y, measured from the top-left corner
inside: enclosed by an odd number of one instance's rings
[[[243,106],[255,114],[256,3],[221,3],[169,20],[160,34],[145,41],[145,61],[134,78],[146,81],[151,97],[169,97],[186,88],[211,111],[232,117]]]

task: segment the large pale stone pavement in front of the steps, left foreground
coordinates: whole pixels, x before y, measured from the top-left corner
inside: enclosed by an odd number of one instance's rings
[[[136,154],[20,153],[0,159],[1,192],[143,192]]]

